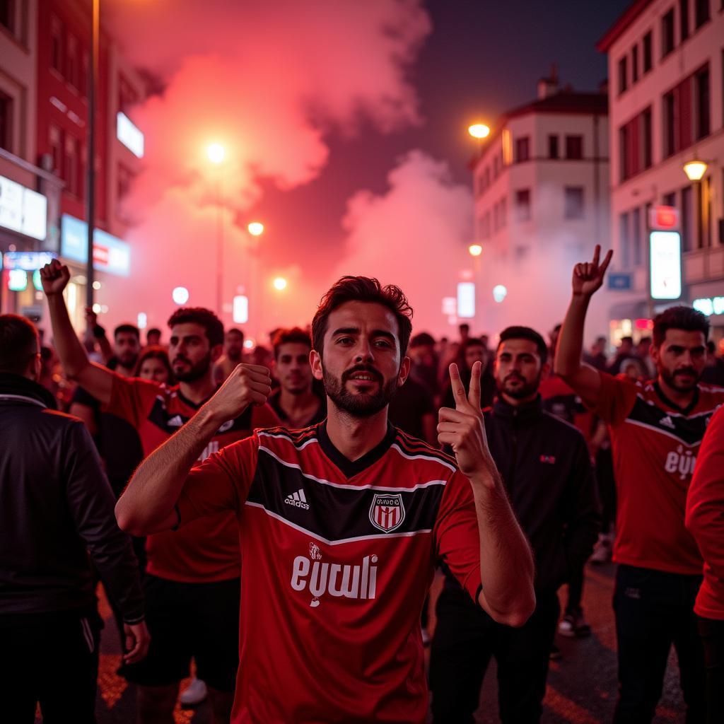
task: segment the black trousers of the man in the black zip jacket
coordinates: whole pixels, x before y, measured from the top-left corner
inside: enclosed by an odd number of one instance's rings
[[[437,627],[430,652],[435,724],[473,722],[493,656],[502,723],[538,722],[559,613],[555,593],[538,594],[528,623],[510,628],[495,623],[466,592],[444,589],[437,599]]]

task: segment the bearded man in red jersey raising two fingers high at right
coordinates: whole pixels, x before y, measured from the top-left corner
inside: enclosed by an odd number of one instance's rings
[[[684,306],[654,319],[657,379],[634,382],[581,363],[584,321],[613,254],[573,269],[555,371],[609,426],[618,512],[613,560],[619,697],[614,721],[649,722],[661,696],[671,644],[678,654],[688,722],[704,717],[704,656],[694,599],[702,557],[684,527],[696,453],[724,390],[699,384],[709,323]]]

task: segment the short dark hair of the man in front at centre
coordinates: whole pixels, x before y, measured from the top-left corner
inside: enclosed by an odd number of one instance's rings
[[[312,345],[320,355],[330,313],[347,302],[368,302],[387,307],[397,319],[400,355],[407,353],[413,311],[403,290],[392,284],[383,287],[378,279],[370,277],[341,277],[321,298],[312,320]]]

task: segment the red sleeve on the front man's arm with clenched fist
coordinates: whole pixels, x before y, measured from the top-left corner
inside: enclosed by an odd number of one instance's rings
[[[179,525],[222,510],[241,510],[256,471],[256,434],[222,447],[191,468],[177,501]]]

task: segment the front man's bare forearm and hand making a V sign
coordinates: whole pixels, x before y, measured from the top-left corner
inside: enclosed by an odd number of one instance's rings
[[[480,538],[478,602],[498,623],[523,626],[536,606],[533,555],[488,447],[480,409],[481,369],[481,363],[473,365],[466,396],[458,366],[450,365],[455,410],[440,408],[437,439],[452,446],[473,489]]]

